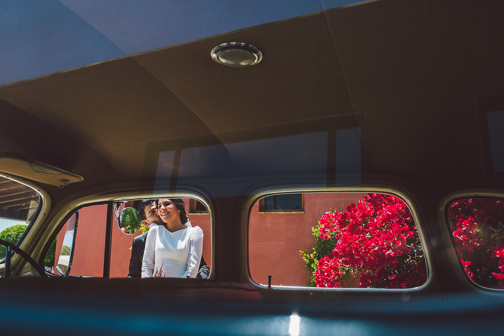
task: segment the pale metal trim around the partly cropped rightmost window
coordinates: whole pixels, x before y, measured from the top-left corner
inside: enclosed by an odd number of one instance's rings
[[[504,199],[504,190],[496,190],[496,189],[462,189],[449,193],[439,202],[439,207],[437,209],[437,221],[439,223],[439,229],[441,231],[441,236],[443,238],[443,242],[447,247],[447,253],[450,258],[450,264],[453,267],[453,272],[457,276],[458,280],[461,284],[464,284],[466,287],[470,287],[471,289],[478,289],[484,292],[495,292],[502,293],[502,289],[494,289],[487,288],[481,285],[476,284],[472,281],[469,276],[464,272],[464,268],[462,267],[462,263],[460,262],[459,255],[457,253],[457,249],[452,240],[452,234],[448,229],[448,223],[445,218],[445,209],[451,201],[457,198],[463,197],[500,197]]]

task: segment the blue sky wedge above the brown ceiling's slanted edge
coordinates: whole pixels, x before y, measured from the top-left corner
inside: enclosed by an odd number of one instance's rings
[[[356,0],[0,0],[0,85]]]

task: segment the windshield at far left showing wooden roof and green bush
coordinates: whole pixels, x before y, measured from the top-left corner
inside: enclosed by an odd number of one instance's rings
[[[0,176],[0,239],[16,244],[41,205],[40,195],[29,186]],[[6,248],[0,245],[0,259]]]

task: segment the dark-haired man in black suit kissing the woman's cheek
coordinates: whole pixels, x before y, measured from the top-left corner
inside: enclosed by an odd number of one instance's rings
[[[160,224],[161,219],[157,214],[156,199],[143,199],[138,206],[138,213],[142,224],[149,227],[152,223]],[[189,223],[189,222],[188,222]],[[191,224],[190,224],[191,225]],[[140,278],[142,274],[142,258],[144,257],[145,239],[147,232],[133,238],[131,246],[130,273],[128,278]],[[210,267],[203,256],[201,257],[200,268],[196,278],[207,279],[210,274]]]

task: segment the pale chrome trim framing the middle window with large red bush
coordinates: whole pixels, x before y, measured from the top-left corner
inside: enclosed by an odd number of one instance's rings
[[[268,288],[267,285],[260,285],[250,277],[249,264],[248,264],[248,219],[250,217],[250,212],[256,201],[260,198],[273,194],[273,193],[310,193],[310,192],[377,192],[377,193],[387,193],[401,198],[404,203],[409,207],[411,214],[413,215],[413,219],[417,226],[418,234],[420,236],[420,241],[422,243],[424,253],[425,253],[425,261],[427,267],[427,280],[422,286],[407,288],[407,289],[388,289],[388,288],[318,288],[318,287],[307,287],[307,286],[275,286],[272,285],[271,288]],[[340,186],[313,186],[313,185],[289,185],[289,186],[269,186],[269,187],[261,187],[253,192],[250,192],[248,196],[246,196],[243,200],[241,206],[241,218],[242,223],[240,226],[241,240],[244,242],[241,244],[241,269],[239,270],[241,282],[249,283],[258,289],[262,290],[280,290],[280,291],[317,291],[317,292],[346,292],[346,293],[366,293],[366,292],[383,292],[383,293],[402,293],[402,292],[418,292],[427,289],[433,279],[433,272],[435,268],[433,268],[434,260],[434,252],[432,250],[431,242],[427,239],[428,233],[425,227],[425,220],[421,215],[420,209],[418,207],[418,201],[415,200],[415,197],[407,192],[404,189],[399,187],[385,185],[385,184],[366,184],[366,185],[340,185]],[[427,243],[428,242],[428,243]],[[238,247],[239,248],[239,247]]]

